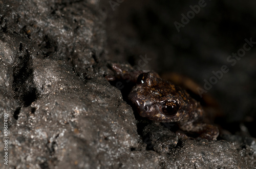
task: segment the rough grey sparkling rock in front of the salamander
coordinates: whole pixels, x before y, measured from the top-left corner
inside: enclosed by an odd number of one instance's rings
[[[118,15],[113,12],[108,1],[0,1],[1,138],[4,114],[9,116],[8,151],[0,142],[0,167],[256,167],[253,137],[181,139],[173,124],[142,120],[133,112],[103,77],[111,73],[106,60],[116,54],[106,56],[116,45],[111,38],[106,44],[106,30],[109,36],[117,32],[110,30],[116,20],[105,22]],[[129,44],[136,43],[125,42],[127,56]],[[157,50],[149,45],[147,53]]]

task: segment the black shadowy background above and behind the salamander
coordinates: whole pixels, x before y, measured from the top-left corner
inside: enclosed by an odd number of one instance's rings
[[[255,136],[256,45],[234,66],[227,62],[243,48],[245,39],[256,41],[255,1],[205,1],[206,6],[177,31],[199,1],[124,1],[111,8],[107,19],[108,55],[114,61],[138,65],[139,55],[152,58],[142,69],[158,73],[178,72],[199,85],[212,71],[227,65],[216,85],[208,91],[226,115],[226,128],[240,130],[244,124]],[[247,45],[248,47],[248,45]],[[224,126],[225,127],[225,126]]]

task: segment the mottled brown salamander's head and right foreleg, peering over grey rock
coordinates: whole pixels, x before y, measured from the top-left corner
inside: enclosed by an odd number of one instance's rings
[[[177,122],[182,130],[199,133],[199,137],[210,140],[219,134],[216,126],[203,123],[205,112],[199,102],[156,73],[141,74],[128,98],[142,117],[158,122]]]

